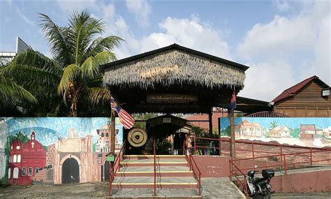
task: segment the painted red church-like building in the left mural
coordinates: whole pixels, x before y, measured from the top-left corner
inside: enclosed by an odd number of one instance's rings
[[[46,152],[41,142],[36,140],[36,133],[31,133],[25,145],[21,140],[13,140],[9,151],[8,183],[31,184],[37,170],[45,164]]]

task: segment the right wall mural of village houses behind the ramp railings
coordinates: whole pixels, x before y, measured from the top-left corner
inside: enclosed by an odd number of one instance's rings
[[[230,136],[230,121],[219,118],[220,133]],[[236,117],[235,138],[277,141],[306,147],[331,147],[331,118],[328,117]]]

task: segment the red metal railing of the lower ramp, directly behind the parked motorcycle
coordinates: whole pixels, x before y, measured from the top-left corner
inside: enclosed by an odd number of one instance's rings
[[[309,165],[313,165],[313,163],[317,163],[317,162],[323,162],[323,161],[331,161],[331,159],[322,159],[322,160],[314,160],[313,159],[313,154],[317,154],[317,153],[322,153],[322,152],[331,152],[331,149],[324,149],[324,150],[317,150],[317,151],[312,151],[312,149],[309,149],[309,152],[297,152],[297,153],[287,153],[287,154],[279,154],[279,155],[272,155],[272,156],[259,156],[259,157],[255,157],[255,161],[256,159],[270,159],[272,157],[282,157],[282,162],[279,164],[272,164],[272,165],[263,165],[261,167],[259,167],[260,169],[265,169],[265,168],[277,168],[277,170],[284,170],[284,173],[287,174],[288,173],[288,168],[290,165],[302,165],[302,166],[307,166],[307,164]],[[309,155],[305,155],[305,154],[309,154]],[[308,157],[309,161],[297,161],[298,159],[295,159],[295,162],[292,163],[288,163],[288,161],[286,161],[286,156],[304,156],[304,157]],[[247,172],[249,170],[253,170],[255,168],[239,168],[238,165],[235,164],[235,162],[240,162],[240,161],[248,161],[248,160],[252,160],[251,158],[247,158],[247,159],[235,159],[233,161],[229,161],[229,168],[230,168],[230,180],[232,181],[232,177],[235,177],[237,179],[237,182],[240,182],[240,184],[242,184],[243,188],[246,189],[246,194],[247,194],[247,186],[246,186],[246,175],[244,174],[244,172]],[[281,159],[280,159],[281,160]],[[282,168],[282,169],[281,169]],[[237,172],[240,172],[239,175],[237,175]],[[242,175],[244,177],[243,180],[241,180],[240,178],[238,178],[238,176]],[[248,198],[248,196],[246,196]]]

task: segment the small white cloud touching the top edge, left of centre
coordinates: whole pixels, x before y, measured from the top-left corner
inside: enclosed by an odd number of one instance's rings
[[[147,0],[127,0],[126,8],[135,16],[135,20],[141,27],[146,27],[149,24],[152,8]]]

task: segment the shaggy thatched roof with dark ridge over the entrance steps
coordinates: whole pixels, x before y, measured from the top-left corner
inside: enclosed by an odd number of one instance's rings
[[[247,66],[177,44],[101,66],[108,87],[153,88],[155,84],[216,89],[244,87]]]

